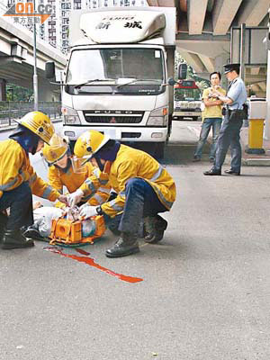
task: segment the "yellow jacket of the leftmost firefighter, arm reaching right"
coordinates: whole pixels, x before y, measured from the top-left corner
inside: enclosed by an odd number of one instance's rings
[[[60,193],[45,183],[33,170],[27,152],[14,139],[0,142],[0,196],[28,182],[31,192],[50,202]]]

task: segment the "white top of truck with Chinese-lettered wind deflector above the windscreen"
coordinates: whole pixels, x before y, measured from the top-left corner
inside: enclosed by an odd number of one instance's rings
[[[162,44],[175,45],[174,7],[112,7],[74,10],[69,23],[71,46],[89,43],[138,43],[159,35]]]

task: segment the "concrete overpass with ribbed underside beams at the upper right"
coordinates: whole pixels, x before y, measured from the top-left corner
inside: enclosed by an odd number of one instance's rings
[[[148,0],[176,8],[176,49],[199,76],[207,77],[230,58],[230,29],[266,27],[269,0]],[[266,96],[266,66],[247,67],[245,81]]]

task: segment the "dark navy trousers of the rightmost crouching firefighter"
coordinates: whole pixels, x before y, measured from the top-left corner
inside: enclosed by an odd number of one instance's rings
[[[132,177],[128,180],[125,195],[124,210],[120,215],[113,219],[104,215],[105,222],[110,229],[119,229],[142,236],[142,219],[146,216],[155,216],[158,212],[167,211],[152,186],[139,177]]]

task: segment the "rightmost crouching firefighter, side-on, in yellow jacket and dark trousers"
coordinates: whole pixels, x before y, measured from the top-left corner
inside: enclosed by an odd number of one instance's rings
[[[106,251],[107,257],[124,257],[139,251],[139,224],[144,222],[145,241],[157,243],[163,238],[166,220],[159,212],[169,211],[175,202],[175,182],[166,169],[147,153],[121,145],[95,130],[88,130],[77,140],[76,157],[97,165],[102,184],[108,182],[117,197],[101,206],[81,207],[81,216],[89,218],[103,214],[105,221],[118,218],[120,238]],[[87,179],[80,187],[87,195],[96,185]],[[77,196],[70,195],[68,202],[74,205]]]

